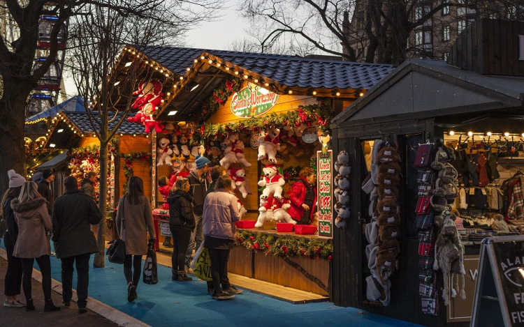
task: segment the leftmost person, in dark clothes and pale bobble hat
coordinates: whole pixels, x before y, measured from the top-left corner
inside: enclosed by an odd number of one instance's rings
[[[24,307],[20,302],[20,288],[22,287],[22,260],[13,257],[13,250],[18,237],[18,225],[15,220],[15,212],[11,208],[11,201],[20,196],[20,190],[25,183],[25,178],[11,169],[7,172],[9,176],[9,188],[3,194],[0,207],[0,217],[6,220],[7,231],[3,236],[3,243],[6,245],[7,252],[7,271],[4,278],[4,294],[6,299],[3,301],[4,307]]]

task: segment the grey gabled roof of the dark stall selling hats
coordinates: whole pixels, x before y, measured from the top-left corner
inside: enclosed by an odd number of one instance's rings
[[[409,59],[333,119],[331,128],[472,112],[523,119],[524,77],[479,75],[444,61]],[[361,127],[364,128],[364,127]]]

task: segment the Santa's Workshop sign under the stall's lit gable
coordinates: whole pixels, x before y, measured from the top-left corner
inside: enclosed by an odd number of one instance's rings
[[[247,86],[231,96],[231,112],[240,118],[260,116],[277,104],[278,95],[247,83]]]

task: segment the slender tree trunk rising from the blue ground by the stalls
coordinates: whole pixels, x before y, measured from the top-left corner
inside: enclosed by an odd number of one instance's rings
[[[104,252],[105,252],[105,216],[107,209],[107,195],[108,195],[108,143],[100,142],[100,190],[99,190],[99,209],[102,212],[102,220],[99,223],[99,234],[96,236],[96,243],[99,246],[99,252],[94,254],[93,266],[95,268],[105,267]]]

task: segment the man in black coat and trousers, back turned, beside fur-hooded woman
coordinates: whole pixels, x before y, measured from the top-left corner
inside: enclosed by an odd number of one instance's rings
[[[96,203],[78,190],[73,176],[64,180],[66,193],[54,202],[52,225],[54,250],[62,261],[62,288],[64,305],[71,304],[73,296],[73,264],[76,261],[78,283],[78,312],[87,312],[87,287],[89,285],[89,257],[99,251],[89,225],[96,225],[102,214]]]

